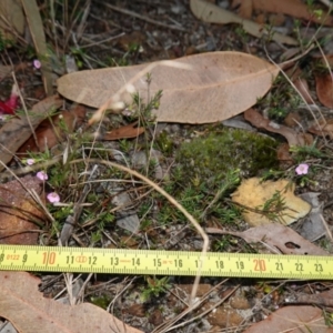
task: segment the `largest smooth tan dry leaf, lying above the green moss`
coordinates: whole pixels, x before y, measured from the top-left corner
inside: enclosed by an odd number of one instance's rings
[[[209,123],[229,119],[255,104],[279,73],[274,65],[241,52],[203,53],[176,62],[192,69],[159,64],[150,71],[149,87],[145,78],[134,83],[143,100],[163,90],[155,111],[160,122]],[[99,108],[145,68],[147,64],[140,64],[67,74],[58,80],[58,91],[78,103]],[[121,100],[131,102],[131,95]]]

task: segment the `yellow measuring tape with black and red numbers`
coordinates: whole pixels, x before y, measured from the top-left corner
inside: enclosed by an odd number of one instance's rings
[[[200,270],[201,269],[201,270]],[[0,271],[333,280],[333,256],[0,245]]]

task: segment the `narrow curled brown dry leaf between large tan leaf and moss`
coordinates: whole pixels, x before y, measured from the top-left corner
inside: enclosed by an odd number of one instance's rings
[[[293,129],[278,124],[269,119],[263,118],[254,109],[246,110],[244,112],[244,118],[258,129],[265,129],[269,132],[283,135],[287,140],[289,145],[306,145],[313,142],[311,134],[297,133]]]

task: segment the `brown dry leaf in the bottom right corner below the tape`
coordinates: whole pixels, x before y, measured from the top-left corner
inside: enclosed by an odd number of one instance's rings
[[[273,312],[264,321],[253,324],[244,333],[332,333],[323,311],[314,306],[285,306]]]

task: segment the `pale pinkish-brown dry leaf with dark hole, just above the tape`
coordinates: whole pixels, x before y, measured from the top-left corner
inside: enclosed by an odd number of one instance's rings
[[[231,234],[245,240],[248,243],[264,243],[271,250],[278,250],[284,254],[299,255],[330,255],[329,252],[303,239],[289,226],[279,223],[270,223],[250,228],[243,232],[223,231],[216,228],[206,228],[208,233]]]

